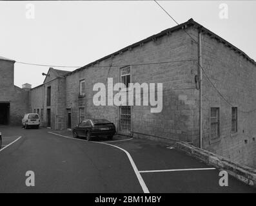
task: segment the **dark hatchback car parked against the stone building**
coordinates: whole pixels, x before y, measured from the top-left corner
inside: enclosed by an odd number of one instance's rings
[[[88,141],[95,136],[107,136],[111,140],[113,135],[115,135],[115,125],[103,119],[84,120],[73,129],[74,138],[83,136]]]

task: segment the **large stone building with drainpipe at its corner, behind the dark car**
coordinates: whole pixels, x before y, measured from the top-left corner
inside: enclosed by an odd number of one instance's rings
[[[50,68],[44,83],[30,90],[30,111],[41,114],[41,124],[53,129],[72,128],[85,118],[107,118],[121,134],[198,146],[199,32],[202,148],[255,167],[256,63],[193,19],[75,71]],[[162,111],[152,113],[151,106],[95,106],[94,85],[107,85],[108,78],[113,84],[162,83]]]

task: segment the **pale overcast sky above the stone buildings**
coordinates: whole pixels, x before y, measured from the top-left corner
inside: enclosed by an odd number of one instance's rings
[[[256,1],[158,3],[178,23],[193,18],[256,60]],[[0,56],[57,66],[84,66],[177,25],[154,1],[1,1],[0,21]],[[16,62],[14,84],[38,86],[48,68]]]

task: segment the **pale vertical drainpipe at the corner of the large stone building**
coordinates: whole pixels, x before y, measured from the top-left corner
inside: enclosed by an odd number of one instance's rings
[[[202,50],[201,28],[198,32],[198,76],[199,76],[199,121],[200,121],[200,148],[202,149]]]

